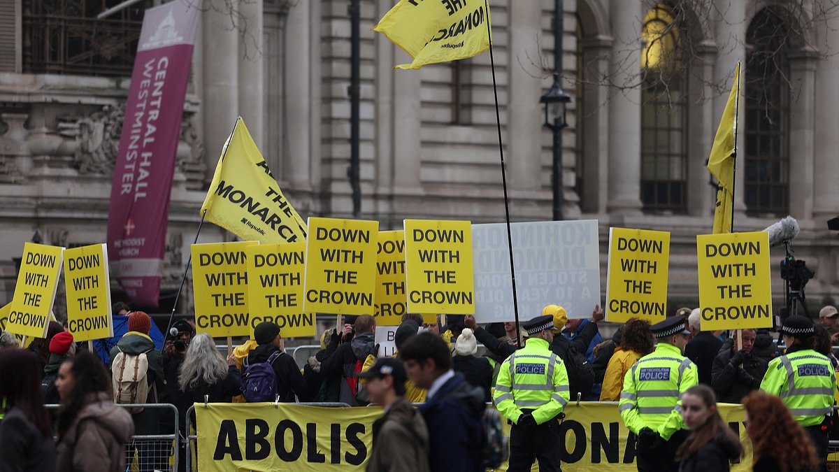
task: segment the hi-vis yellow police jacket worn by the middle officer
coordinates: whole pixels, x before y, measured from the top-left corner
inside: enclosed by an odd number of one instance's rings
[[[638,359],[623,377],[618,404],[623,423],[635,434],[649,427],[670,439],[683,429],[681,396],[696,385],[696,365],[672,344],[659,342],[655,350]]]

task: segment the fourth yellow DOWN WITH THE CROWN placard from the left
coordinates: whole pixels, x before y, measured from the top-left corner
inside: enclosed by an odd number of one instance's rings
[[[260,244],[245,253],[251,325],[277,323],[284,338],[315,336],[315,313],[303,311],[306,244]]]

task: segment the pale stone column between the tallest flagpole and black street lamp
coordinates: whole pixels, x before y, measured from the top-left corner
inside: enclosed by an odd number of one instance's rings
[[[539,76],[523,67],[523,58],[534,54],[534,38],[539,37],[541,2],[517,2],[509,9],[510,48],[507,70],[508,90],[508,165],[509,186],[513,191],[531,191],[541,180],[542,129],[544,105],[539,103],[542,83]],[[550,87],[550,80],[546,82]],[[565,139],[573,135],[565,130]],[[545,131],[549,133],[550,131]]]

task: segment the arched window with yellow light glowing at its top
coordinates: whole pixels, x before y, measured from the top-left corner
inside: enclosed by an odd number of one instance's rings
[[[647,211],[685,211],[688,84],[676,17],[659,3],[641,32],[641,202]]]

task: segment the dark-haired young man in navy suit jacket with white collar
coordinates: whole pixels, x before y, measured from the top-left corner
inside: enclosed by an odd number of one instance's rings
[[[451,370],[449,348],[440,336],[420,333],[399,349],[408,378],[428,389],[419,407],[429,433],[429,460],[435,472],[482,471],[486,440],[482,416],[486,405],[480,387]]]

